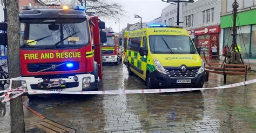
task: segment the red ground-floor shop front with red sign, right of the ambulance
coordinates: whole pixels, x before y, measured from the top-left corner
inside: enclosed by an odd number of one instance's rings
[[[201,56],[205,54],[207,58],[212,58],[212,46],[214,45],[217,46],[217,55],[219,55],[219,33],[219,25],[194,29],[197,47],[201,48]]]

